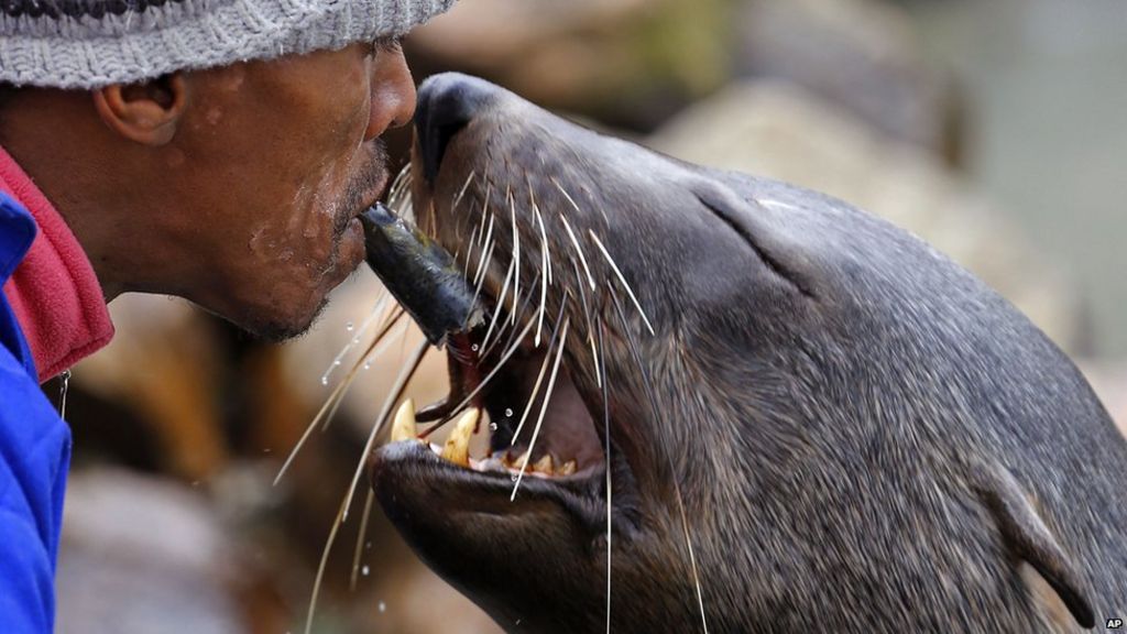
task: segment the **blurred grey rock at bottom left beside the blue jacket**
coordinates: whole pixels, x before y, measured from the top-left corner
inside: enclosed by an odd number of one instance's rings
[[[60,634],[246,632],[232,551],[205,499],[127,472],[76,473],[59,557]]]

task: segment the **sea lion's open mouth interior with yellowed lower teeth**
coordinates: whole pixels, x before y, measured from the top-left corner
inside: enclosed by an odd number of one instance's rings
[[[495,299],[495,279],[482,272],[479,289],[489,318],[446,342],[450,394],[418,412],[405,402],[394,416],[392,446],[426,451],[381,452],[425,463],[433,477],[456,474],[468,484],[504,488],[511,499],[527,486],[556,490],[552,496],[569,497],[569,507],[577,495],[595,501],[605,473],[604,440],[573,381],[567,333],[538,322],[540,294],[533,289],[517,301],[507,298],[526,316],[514,318],[502,305],[508,293],[502,290],[502,301]],[[432,424],[421,426],[426,423]],[[438,442],[441,433],[446,437]]]

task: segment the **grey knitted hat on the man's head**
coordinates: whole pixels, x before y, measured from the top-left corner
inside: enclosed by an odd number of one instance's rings
[[[100,88],[397,36],[455,0],[0,0],[0,82]]]

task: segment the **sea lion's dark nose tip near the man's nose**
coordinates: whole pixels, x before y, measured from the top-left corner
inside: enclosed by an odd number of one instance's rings
[[[476,78],[447,72],[432,77],[419,88],[415,127],[423,156],[423,175],[434,183],[450,140],[488,102],[491,86]]]

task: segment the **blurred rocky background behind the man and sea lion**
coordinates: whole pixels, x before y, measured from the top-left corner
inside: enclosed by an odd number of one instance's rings
[[[1122,0],[462,0],[406,46],[418,80],[480,74],[663,152],[890,219],[1029,314],[1127,420]],[[400,157],[406,142],[392,140]],[[303,629],[341,496],[419,340],[411,328],[366,367],[355,351],[334,364],[379,290],[358,272],[282,346],[179,300],[114,302],[116,340],[70,381],[59,632]],[[273,486],[353,368],[331,425]],[[444,380],[433,354],[408,394],[436,400]],[[328,558],[314,632],[498,632],[379,510],[363,534],[361,514]]]

